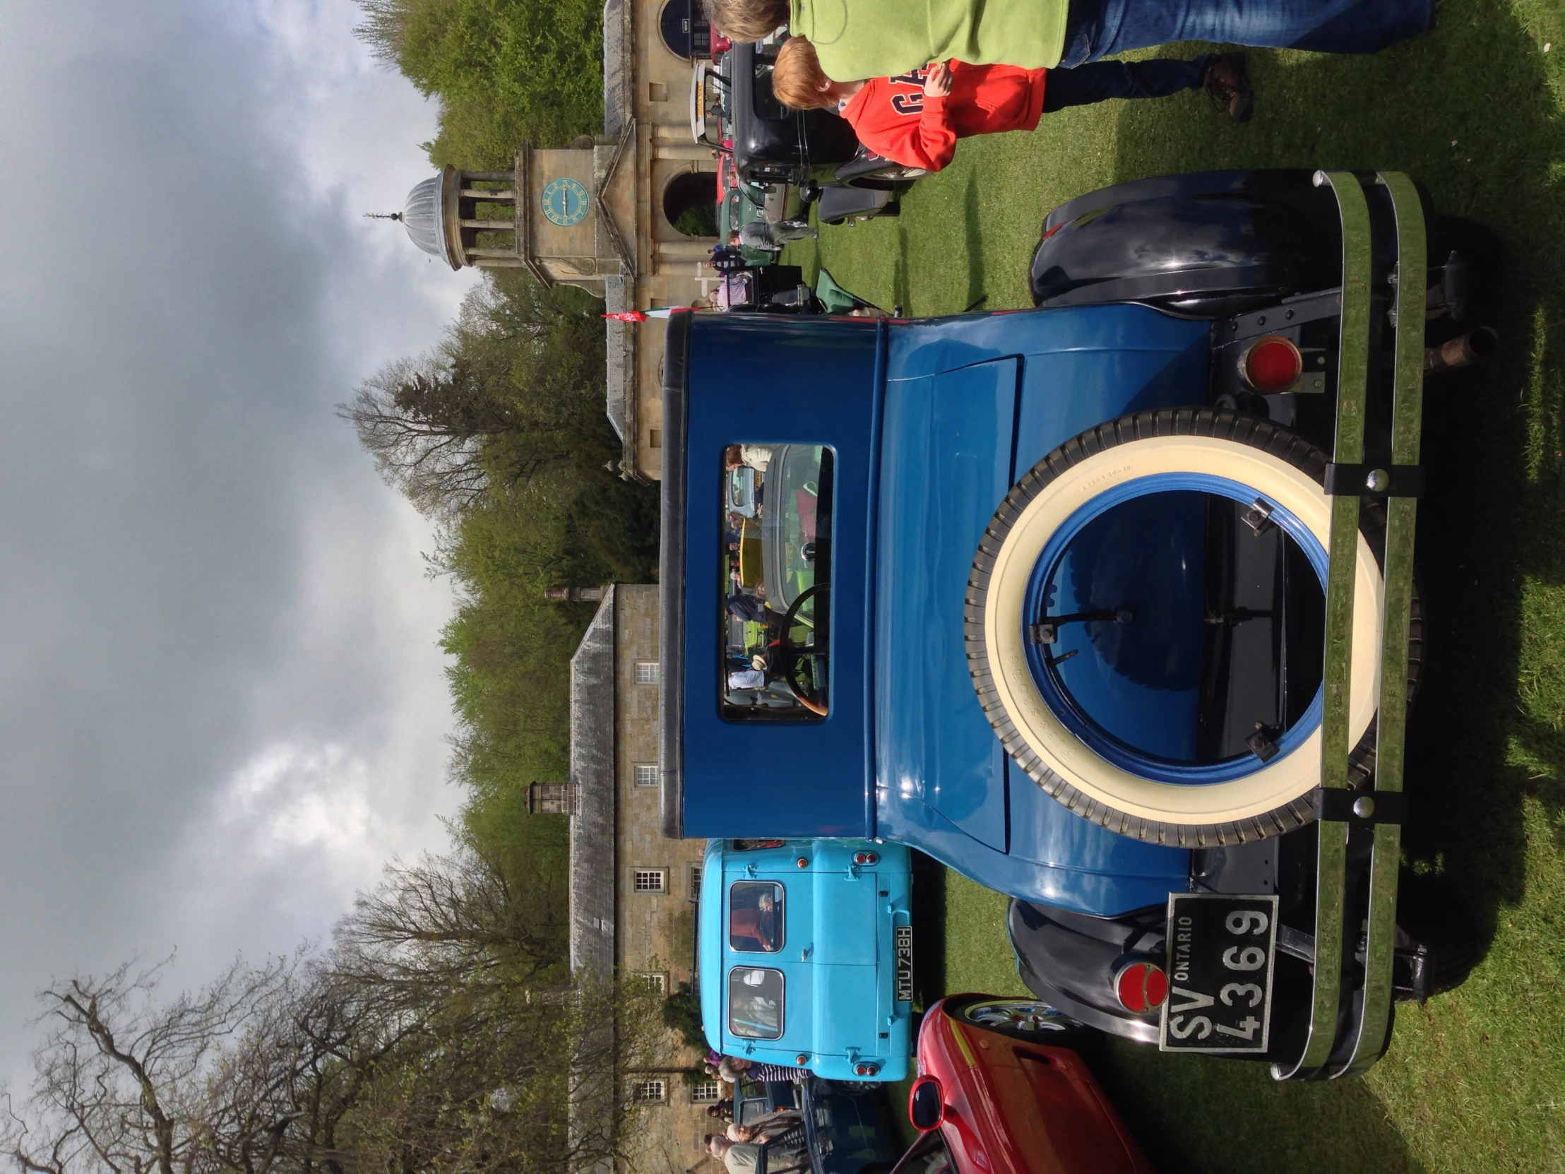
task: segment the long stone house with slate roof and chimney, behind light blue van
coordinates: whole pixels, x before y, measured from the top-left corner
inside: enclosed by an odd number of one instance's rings
[[[695,980],[706,844],[664,839],[659,830],[657,689],[657,587],[603,589],[571,659],[571,794],[537,792],[537,803],[573,809],[571,966],[645,975],[671,992]],[[675,1066],[700,1061],[681,1049]],[[631,1093],[653,1102],[637,1174],[684,1174],[706,1161],[715,1082],[645,1074]]]

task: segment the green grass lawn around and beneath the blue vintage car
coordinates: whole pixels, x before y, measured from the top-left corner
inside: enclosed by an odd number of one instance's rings
[[[1545,52],[1545,44],[1551,52]],[[1042,216],[1125,178],[1250,166],[1410,172],[1491,235],[1473,319],[1506,352],[1430,384],[1419,507],[1429,672],[1410,733],[1405,886],[1473,927],[1459,991],[1399,1008],[1362,1080],[1106,1043],[1094,1064],[1166,1171],[1565,1169],[1565,0],[1446,0],[1377,58],[1257,52],[1257,113],[1205,95],[1110,103],[967,141],[898,219],[790,260],[909,315],[1027,305]],[[934,870],[934,989],[1019,991],[997,894]],[[934,916],[930,916],[933,909]],[[933,936],[933,947],[931,947]]]

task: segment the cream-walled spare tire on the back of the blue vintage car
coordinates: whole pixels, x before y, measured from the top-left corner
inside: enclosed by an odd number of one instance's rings
[[[967,579],[966,642],[973,689],[1011,758],[1077,814],[1136,839],[1180,847],[1246,842],[1315,817],[1321,778],[1319,698],[1277,737],[1277,753],[1218,764],[1152,762],[1085,728],[1045,697],[1027,646],[1025,596],[1034,567],[1058,560],[1075,534],[1116,504],[1150,493],[1203,492],[1265,501],[1271,518],[1326,581],[1330,498],[1326,454],[1254,416],[1207,409],[1144,412],[1089,429],[1045,456],[1000,502]],[[1355,775],[1373,769],[1380,675],[1382,578],[1363,510],[1354,609],[1349,739]],[[1368,537],[1366,537],[1368,535]],[[1376,543],[1379,545],[1379,543]],[[1415,601],[1408,672],[1423,625]]]

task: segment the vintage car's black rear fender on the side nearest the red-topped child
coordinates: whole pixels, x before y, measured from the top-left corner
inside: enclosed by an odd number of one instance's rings
[[[1044,221],[1036,305],[1147,302],[1227,318],[1341,280],[1341,230],[1313,171],[1164,175],[1077,196]]]

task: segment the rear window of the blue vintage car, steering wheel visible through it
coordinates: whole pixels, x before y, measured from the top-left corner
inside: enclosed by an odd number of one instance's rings
[[[834,465],[825,445],[723,449],[725,718],[818,722],[829,711]]]

